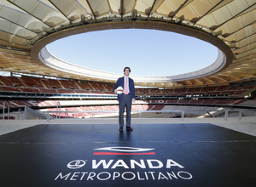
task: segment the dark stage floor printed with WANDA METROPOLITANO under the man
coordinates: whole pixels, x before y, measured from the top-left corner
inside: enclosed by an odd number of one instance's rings
[[[256,186],[256,137],[212,124],[38,125],[0,136],[0,186]]]

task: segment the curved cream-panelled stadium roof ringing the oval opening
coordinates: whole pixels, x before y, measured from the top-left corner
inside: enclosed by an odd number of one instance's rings
[[[173,31],[212,43],[218,59],[199,71],[132,77],[150,87],[255,79],[255,0],[0,0],[0,71],[115,82],[120,75],[56,58],[45,48],[71,35],[110,29]],[[200,52],[198,52],[200,53]]]

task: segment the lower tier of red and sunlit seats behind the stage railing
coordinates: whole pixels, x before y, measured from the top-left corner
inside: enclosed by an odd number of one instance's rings
[[[186,102],[184,102],[184,100]],[[0,110],[3,110],[3,102],[8,102],[9,108],[12,109],[22,109],[24,106],[28,106],[34,109],[40,109],[43,111],[50,111],[50,115],[52,117],[56,117],[57,104],[59,101],[57,100],[37,100],[37,99],[24,99],[24,100],[0,100]],[[147,103],[148,102],[148,103]],[[181,103],[180,103],[181,102]],[[65,105],[61,105],[61,114],[58,115],[61,118],[88,118],[92,117],[92,111],[94,111],[94,116],[116,116],[119,111],[119,105],[89,105],[83,106],[80,102],[76,102],[75,100],[67,100],[65,101]],[[68,105],[68,106],[67,106]],[[190,105],[190,106],[189,106]],[[168,107],[172,106],[172,110],[181,111],[183,108],[181,107],[194,107],[197,105],[197,108],[211,106],[212,109],[215,110],[218,106],[229,108],[232,105],[237,106],[250,106],[251,109],[256,107],[255,100],[253,99],[166,99],[166,100],[144,100],[137,101],[134,105],[132,105],[131,111],[162,111],[169,109]],[[36,107],[36,108],[35,108]],[[5,105],[5,110],[7,109],[7,105]],[[185,108],[184,108],[185,109]],[[195,111],[196,111],[195,109]],[[97,111],[105,111],[105,112],[97,112]],[[109,113],[108,113],[109,111]],[[194,110],[192,110],[194,111]],[[190,112],[192,112],[190,110]],[[243,110],[244,111],[244,110]],[[160,112],[161,113],[161,112]],[[186,114],[188,111],[186,111]],[[193,113],[193,112],[192,112]],[[221,113],[221,112],[219,112]],[[157,113],[156,113],[157,114]],[[222,111],[223,114],[223,111]],[[255,112],[250,110],[245,110],[244,115],[252,116],[255,115]],[[217,114],[215,114],[217,116]],[[237,114],[236,114],[237,116]],[[15,119],[16,116],[12,116],[11,119]]]

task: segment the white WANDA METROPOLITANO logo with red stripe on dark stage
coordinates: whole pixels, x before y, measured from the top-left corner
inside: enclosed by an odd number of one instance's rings
[[[55,181],[170,180],[171,182],[193,178],[192,174],[185,171],[185,167],[177,161],[171,158],[157,159],[154,150],[154,148],[125,146],[96,148],[91,160],[85,158],[69,161],[65,172],[58,173]],[[111,159],[108,159],[109,156]],[[131,156],[130,160],[129,156]],[[116,159],[113,159],[115,157]]]

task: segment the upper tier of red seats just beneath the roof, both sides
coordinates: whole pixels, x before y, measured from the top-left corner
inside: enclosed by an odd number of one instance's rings
[[[12,80],[13,82],[10,82]],[[28,78],[3,78],[1,77],[2,85],[0,90],[9,92],[31,92],[31,93],[51,93],[51,94],[113,94],[113,86],[100,83],[87,83],[81,84],[79,82],[71,81],[57,81],[48,79],[33,78],[31,82]],[[22,82],[24,82],[22,84]],[[39,83],[42,82],[42,83]],[[7,86],[8,85],[8,86]],[[26,86],[24,86],[26,85]],[[33,88],[33,89],[31,89]],[[37,89],[38,88],[38,89]],[[152,95],[152,96],[172,96],[172,95],[218,95],[226,94],[229,96],[241,96],[249,92],[254,87],[245,88],[230,88],[230,86],[207,87],[207,88],[174,88],[174,89],[152,89],[142,88],[136,89],[136,94],[139,96]],[[82,91],[81,91],[82,90]],[[212,91],[214,90],[214,91]],[[90,91],[90,92],[88,92]]]

